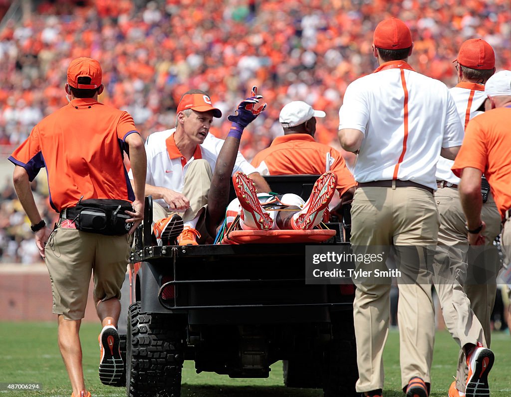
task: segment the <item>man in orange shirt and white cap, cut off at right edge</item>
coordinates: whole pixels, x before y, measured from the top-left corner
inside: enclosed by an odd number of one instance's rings
[[[485,222],[481,219],[481,176],[490,183],[495,203],[502,221],[502,247],[507,260],[511,258],[511,71],[501,71],[490,77],[484,86],[488,97],[486,111],[467,125],[461,149],[456,156],[452,171],[461,178],[458,186],[461,205],[467,219],[467,239],[470,245],[484,245]],[[487,349],[486,349],[487,350]],[[485,388],[489,395],[487,372],[493,365],[493,354],[479,359],[479,365],[469,372],[466,394],[477,388]],[[484,369],[483,383],[471,382],[472,375]],[[470,394],[479,395],[479,394]],[[482,394],[480,394],[482,395]]]

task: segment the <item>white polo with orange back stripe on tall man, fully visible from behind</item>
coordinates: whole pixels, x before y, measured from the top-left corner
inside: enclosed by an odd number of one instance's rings
[[[344,128],[364,134],[353,172],[357,182],[410,180],[436,190],[440,150],[463,141],[447,86],[404,61],[386,62],[347,87],[339,109]]]

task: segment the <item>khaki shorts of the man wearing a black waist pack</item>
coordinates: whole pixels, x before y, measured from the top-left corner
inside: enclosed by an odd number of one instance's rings
[[[94,299],[121,298],[131,238],[57,227],[44,250],[53,294],[53,313],[68,320],[85,315],[90,275]]]

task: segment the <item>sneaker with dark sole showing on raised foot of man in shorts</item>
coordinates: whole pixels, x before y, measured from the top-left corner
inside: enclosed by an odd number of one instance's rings
[[[104,385],[116,385],[123,375],[123,359],[119,351],[119,333],[113,325],[105,325],[98,337],[100,348],[99,379]]]

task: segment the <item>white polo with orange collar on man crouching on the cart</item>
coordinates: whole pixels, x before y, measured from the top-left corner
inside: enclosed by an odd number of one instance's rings
[[[147,157],[146,183],[153,186],[163,186],[175,192],[181,193],[184,186],[184,175],[187,172],[191,162],[195,159],[203,158],[211,166],[212,172],[215,171],[218,154],[224,143],[212,134],[207,134],[204,142],[197,146],[194,155],[187,161],[176,147],[174,137],[175,128],[153,132],[145,143]],[[233,175],[237,171],[242,171],[249,175],[255,172],[255,168],[238,152]],[[133,179],[133,173],[130,170],[129,178]],[[154,200],[162,207],[167,208],[168,204],[163,199]]]

